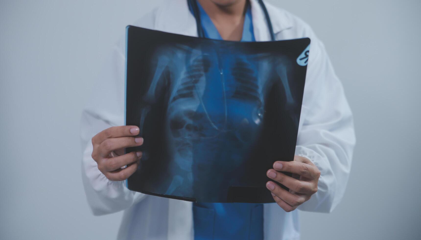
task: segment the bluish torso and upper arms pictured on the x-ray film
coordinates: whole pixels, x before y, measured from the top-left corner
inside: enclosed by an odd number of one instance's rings
[[[282,58],[267,53],[239,55],[229,44],[191,48],[173,44],[155,52],[152,82],[144,95],[140,129],[154,104],[168,94],[166,146],[173,158],[165,195],[197,195],[218,201],[235,182],[242,155],[255,144],[264,118],[265,95],[282,83],[285,108],[295,104]],[[294,120],[298,125],[298,119]],[[144,152],[142,161],[148,161]],[[212,179],[211,173],[219,173]],[[230,176],[227,178],[226,176]],[[208,186],[203,188],[203,186]],[[226,190],[225,190],[226,192]]]

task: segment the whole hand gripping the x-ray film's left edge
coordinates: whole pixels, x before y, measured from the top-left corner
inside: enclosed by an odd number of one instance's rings
[[[137,170],[142,152],[124,154],[124,149],[143,144],[143,138],[134,137],[138,134],[137,126],[118,126],[107,128],[92,138],[92,158],[107,179],[124,181]]]

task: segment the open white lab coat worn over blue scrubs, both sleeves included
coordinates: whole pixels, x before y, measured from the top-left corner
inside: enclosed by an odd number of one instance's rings
[[[257,0],[250,2],[256,41],[268,41],[264,13]],[[348,181],[355,144],[352,113],[325,48],[312,29],[285,10],[269,3],[266,7],[277,40],[311,39],[296,155],[309,158],[320,169],[321,176],[317,193],[298,209],[328,213],[341,201]],[[197,36],[187,0],[168,0],[133,25]],[[91,157],[91,138],[96,133],[124,125],[124,75],[122,37],[82,115],[81,138],[85,149],[82,176],[88,203],[95,215],[125,211],[118,239],[191,240],[191,202],[132,192],[126,188],[125,181],[109,181]],[[286,213],[276,203],[264,204],[265,240],[295,240],[299,236],[298,211]]]

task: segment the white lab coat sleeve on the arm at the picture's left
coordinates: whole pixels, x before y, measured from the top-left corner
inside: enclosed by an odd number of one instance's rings
[[[153,28],[153,14],[136,25]],[[82,113],[80,136],[83,151],[82,179],[88,204],[94,215],[115,213],[140,202],[147,195],[133,192],[125,181],[110,181],[98,170],[92,159],[91,139],[112,126],[124,125],[125,39],[121,38],[106,61],[91,93],[91,100]]]

